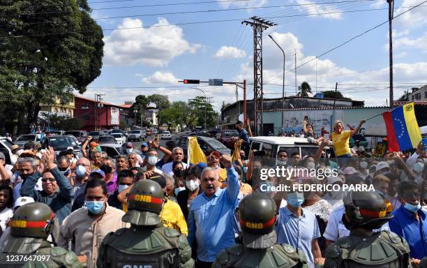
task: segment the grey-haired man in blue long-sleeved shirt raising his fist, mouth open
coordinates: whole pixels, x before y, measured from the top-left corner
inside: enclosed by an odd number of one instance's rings
[[[233,211],[238,205],[239,175],[230,156],[221,156],[227,170],[227,188],[220,188],[216,170],[204,168],[201,181],[203,193],[190,204],[188,242],[197,242],[196,267],[211,267],[216,255],[234,245]]]

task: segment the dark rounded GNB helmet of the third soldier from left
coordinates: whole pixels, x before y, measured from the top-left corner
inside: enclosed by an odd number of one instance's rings
[[[239,204],[241,230],[249,234],[269,234],[276,222],[276,203],[264,193],[251,193]]]

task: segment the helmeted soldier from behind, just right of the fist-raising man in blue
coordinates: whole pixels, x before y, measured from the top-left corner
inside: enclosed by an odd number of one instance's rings
[[[239,204],[238,215],[241,241],[221,251],[212,268],[307,267],[304,253],[288,244],[276,244],[276,203],[269,195],[247,195]]]

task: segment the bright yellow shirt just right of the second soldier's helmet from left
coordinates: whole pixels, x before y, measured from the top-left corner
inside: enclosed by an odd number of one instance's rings
[[[166,199],[160,212],[160,219],[163,226],[174,228],[181,234],[188,235],[186,218],[184,218],[179,204]]]

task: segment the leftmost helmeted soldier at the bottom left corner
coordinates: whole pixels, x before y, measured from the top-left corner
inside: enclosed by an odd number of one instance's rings
[[[10,222],[11,237],[4,253],[32,255],[32,261],[27,262],[24,267],[83,267],[75,253],[59,246],[52,247],[47,241],[53,228],[54,213],[47,204],[24,204],[13,214]],[[35,258],[33,255],[45,258]]]

